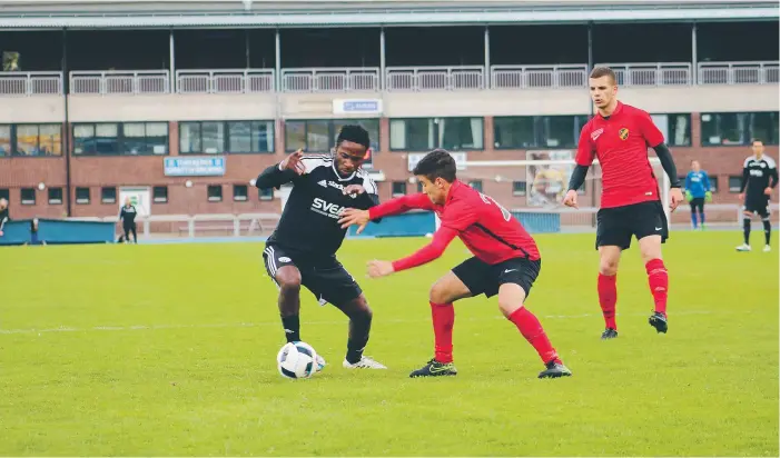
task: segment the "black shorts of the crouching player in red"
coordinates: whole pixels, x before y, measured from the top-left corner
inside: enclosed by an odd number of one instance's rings
[[[513,258],[488,265],[474,257],[466,259],[452,271],[468,288],[472,296],[484,293],[486,297],[492,297],[498,293],[502,285],[515,283],[520,285],[525,291],[525,297],[529,297],[541,269],[541,259],[532,261],[527,258]]]

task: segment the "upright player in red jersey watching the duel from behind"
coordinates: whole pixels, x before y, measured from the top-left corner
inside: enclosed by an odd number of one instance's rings
[[[582,128],[576,167],[563,203],[577,207],[576,190],[584,182],[593,159],[599,158],[602,195],[601,208],[596,215],[595,246],[601,257],[599,302],[606,323],[601,338],[618,337],[618,262],[621,252],[631,246],[632,236],[639,240],[650,292],[655,302],[655,309],[649,320],[650,326],[658,332],[667,332],[669,273],[661,259],[661,243],[669,237],[669,225],[658,181],[648,160],[648,147],[655,150],[663,170],[671,180],[671,211],[682,202],[677,168],[663,135],[650,114],[618,101],[618,83],[612,69],[593,69],[590,74],[590,88],[591,98],[599,112]]]

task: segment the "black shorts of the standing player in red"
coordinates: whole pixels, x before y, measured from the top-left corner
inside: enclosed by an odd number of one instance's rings
[[[669,225],[660,200],[633,203],[624,207],[602,208],[596,213],[595,248],[631,247],[631,237],[641,240],[648,236],[669,238]]]

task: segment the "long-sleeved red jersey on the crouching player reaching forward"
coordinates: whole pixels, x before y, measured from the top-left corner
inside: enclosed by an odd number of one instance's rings
[[[460,237],[474,256],[490,265],[512,258],[540,258],[536,242],[509,210],[458,180],[452,183],[443,206],[434,205],[424,193],[416,193],[372,207],[368,215],[371,219],[376,219],[413,209],[433,210],[442,220],[442,227],[431,245],[393,262],[396,271],[436,259],[455,237]]]

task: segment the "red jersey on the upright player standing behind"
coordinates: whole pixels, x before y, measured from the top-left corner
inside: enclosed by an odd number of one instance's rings
[[[648,147],[663,143],[663,135],[646,111],[618,102],[612,116],[594,116],[582,128],[576,163],[599,158],[602,173],[601,208],[659,200],[659,188],[648,159]]]

